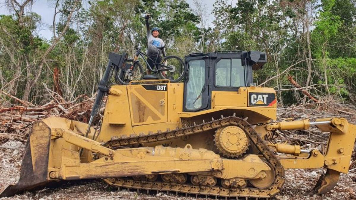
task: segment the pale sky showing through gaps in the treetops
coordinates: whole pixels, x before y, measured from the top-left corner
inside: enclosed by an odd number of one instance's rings
[[[18,0],[23,2],[24,0]],[[206,7],[206,25],[212,26],[212,22],[214,20],[214,16],[211,14],[213,11],[213,4],[215,0],[198,0],[201,2],[203,6]],[[229,0],[231,3],[236,2],[237,0]],[[194,10],[195,4],[193,0],[187,0],[189,6]],[[83,5],[88,6],[88,5]],[[54,12],[54,1],[52,0],[34,0],[32,4],[32,12],[36,12],[37,14],[41,15],[42,17],[42,26],[38,31],[38,35],[41,37],[46,38],[47,40],[51,39],[53,36],[52,30],[50,26],[53,22],[53,12]],[[28,11],[28,10],[27,10]],[[5,0],[0,0],[0,15],[9,15],[9,10],[5,6]]]

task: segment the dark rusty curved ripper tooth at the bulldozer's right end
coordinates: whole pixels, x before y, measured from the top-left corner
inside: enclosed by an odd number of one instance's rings
[[[309,195],[321,195],[332,190],[337,181],[339,180],[340,172],[333,169],[327,169],[326,173],[321,175],[318,182],[314,186],[313,190],[309,192]]]

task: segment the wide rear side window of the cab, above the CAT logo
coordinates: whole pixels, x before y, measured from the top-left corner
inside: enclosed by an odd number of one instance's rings
[[[218,87],[246,86],[242,60],[240,58],[220,59],[215,67],[215,85]]]

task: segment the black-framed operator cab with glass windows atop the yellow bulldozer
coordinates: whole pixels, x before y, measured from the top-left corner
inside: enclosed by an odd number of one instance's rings
[[[184,84],[186,112],[211,109],[211,91],[238,91],[253,83],[252,70],[267,62],[260,51],[216,51],[185,57],[188,67]]]

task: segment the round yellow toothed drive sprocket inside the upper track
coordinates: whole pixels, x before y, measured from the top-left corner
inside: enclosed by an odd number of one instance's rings
[[[245,153],[250,144],[245,131],[238,126],[218,128],[214,141],[220,153],[232,158],[239,157]]]

